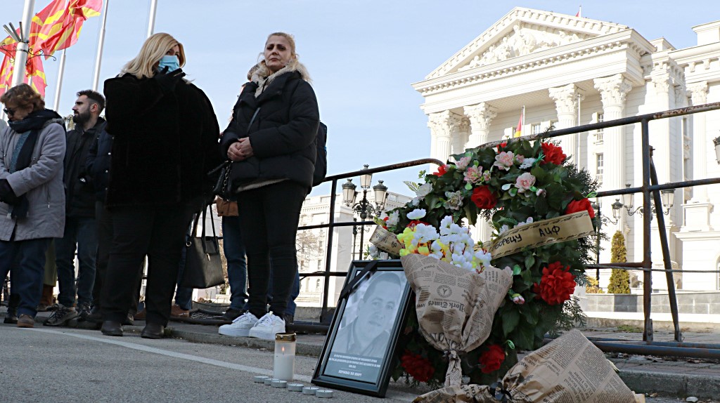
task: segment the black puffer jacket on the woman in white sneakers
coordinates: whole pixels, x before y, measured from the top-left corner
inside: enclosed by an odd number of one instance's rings
[[[312,187],[320,113],[315,91],[298,71],[278,75],[256,98],[258,83],[246,84],[222,136],[222,155],[250,137],[253,157],[233,163],[233,185],[287,179]],[[255,111],[260,108],[248,130]]]

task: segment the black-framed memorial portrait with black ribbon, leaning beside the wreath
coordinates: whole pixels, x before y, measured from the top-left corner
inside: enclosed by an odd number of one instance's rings
[[[409,302],[400,260],[353,261],[312,383],[384,397]]]

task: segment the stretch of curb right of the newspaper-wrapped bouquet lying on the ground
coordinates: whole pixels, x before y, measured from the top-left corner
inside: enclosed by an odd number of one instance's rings
[[[620,370],[620,378],[635,393],[660,393],[677,397],[717,399],[720,378],[654,371]]]

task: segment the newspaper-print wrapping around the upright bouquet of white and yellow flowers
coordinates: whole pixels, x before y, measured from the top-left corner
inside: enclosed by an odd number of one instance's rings
[[[445,386],[459,386],[459,354],[487,340],[492,318],[513,283],[513,272],[487,267],[477,274],[420,254],[400,260],[415,291],[420,334],[449,356]]]

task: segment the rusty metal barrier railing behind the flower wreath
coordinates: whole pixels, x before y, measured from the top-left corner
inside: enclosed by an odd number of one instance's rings
[[[613,343],[613,339],[596,338],[593,343],[600,346],[603,351],[622,351],[628,353],[653,353],[663,354],[671,356],[702,356],[703,358],[720,358],[720,346],[693,346],[691,343],[682,343],[682,333],[680,331],[680,323],[678,319],[678,300],[675,294],[675,282],[673,282],[672,274],[674,272],[704,272],[704,273],[717,273],[717,270],[675,270],[672,269],[670,263],[670,249],[667,242],[667,233],[665,231],[665,216],[662,214],[662,201],[660,199],[660,190],[665,189],[678,189],[685,187],[701,186],[701,185],[714,185],[720,183],[720,177],[708,178],[699,180],[686,180],[681,182],[669,182],[665,184],[658,183],[657,172],[652,161],[652,147],[650,147],[650,134],[649,134],[649,121],[658,119],[668,119],[676,116],[684,116],[691,114],[698,114],[701,112],[715,111],[720,109],[720,102],[718,103],[707,103],[698,106],[688,106],[686,108],[672,109],[669,111],[657,112],[654,114],[644,114],[639,116],[631,116],[627,118],[615,119],[612,121],[602,121],[594,124],[586,124],[582,126],[575,126],[568,129],[559,129],[550,131],[543,134],[535,134],[531,136],[523,136],[519,139],[522,140],[536,140],[546,139],[549,137],[565,136],[567,134],[576,134],[589,131],[600,131],[603,135],[610,135],[610,133],[603,132],[602,129],[616,126],[626,126],[628,124],[640,124],[641,136],[642,136],[642,186],[639,187],[624,187],[616,190],[606,190],[598,192],[597,197],[603,198],[608,196],[617,196],[625,194],[642,193],[642,209],[643,209],[643,248],[642,248],[642,261],[629,262],[629,263],[613,263],[613,264],[589,264],[588,269],[639,269],[643,272],[643,313],[644,313],[644,330],[643,330],[643,341],[642,343]],[[624,135],[621,133],[621,135]],[[519,139],[503,139],[497,142],[489,142],[482,144],[480,147],[497,147],[503,142],[516,142]],[[325,182],[332,182],[332,188],[330,193],[330,222],[328,224],[321,224],[316,226],[303,226],[298,230],[307,230],[312,228],[335,228],[341,226],[354,226],[354,225],[372,225],[373,221],[347,221],[338,222],[335,219],[335,205],[336,205],[336,190],[337,182],[340,179],[347,177],[355,177],[366,173],[375,172],[386,172],[389,170],[395,170],[404,167],[413,167],[416,165],[423,165],[428,163],[434,163],[442,165],[443,162],[437,159],[416,159],[410,162],[402,162],[395,165],[386,165],[384,167],[377,167],[371,170],[362,170],[347,172],[339,175],[333,175],[325,178]],[[652,269],[651,260],[651,242],[650,237],[652,230],[650,222],[652,220],[652,207],[651,203],[655,205],[655,217],[657,218],[658,232],[660,233],[660,244],[662,249],[662,260],[664,269]],[[328,231],[327,241],[327,254],[325,256],[325,272],[315,272],[303,274],[303,277],[309,276],[322,276],[325,277],[325,287],[323,292],[323,307],[320,312],[320,322],[328,323],[328,292],[329,284],[328,279],[333,276],[346,276],[347,272],[331,272],[331,259],[332,259],[332,244],[333,244],[333,231]],[[675,343],[657,343],[653,342],[653,328],[652,320],[650,319],[651,314],[651,302],[652,302],[652,272],[665,272],[665,278],[667,281],[667,295],[670,303],[670,312],[672,315],[672,324],[674,327],[674,338]],[[688,348],[704,348],[701,353],[690,353]],[[696,354],[696,355],[693,355]]]

